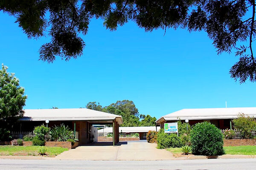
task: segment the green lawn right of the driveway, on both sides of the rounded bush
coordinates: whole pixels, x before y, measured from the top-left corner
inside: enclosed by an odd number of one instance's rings
[[[256,155],[256,146],[227,146],[224,147],[226,154],[230,155]],[[166,149],[175,155],[181,155],[181,148]]]

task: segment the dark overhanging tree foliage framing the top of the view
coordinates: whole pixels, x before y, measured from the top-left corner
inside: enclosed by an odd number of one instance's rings
[[[16,17],[29,38],[49,30],[51,41],[42,45],[40,59],[69,60],[81,56],[85,46],[79,34],[87,34],[92,18],[103,18],[113,31],[134,21],[145,31],[186,28],[206,31],[218,54],[236,49],[239,61],[231,77],[242,83],[256,81],[252,42],[256,36],[255,0],[2,0],[0,10]],[[49,15],[45,15],[46,12]],[[49,16],[49,17],[48,17]],[[48,28],[49,27],[49,28]],[[239,45],[244,42],[247,45]]]

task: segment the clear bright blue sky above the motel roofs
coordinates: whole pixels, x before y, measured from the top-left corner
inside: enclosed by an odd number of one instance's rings
[[[159,118],[183,108],[255,107],[256,83],[230,78],[238,60],[217,55],[205,32],[169,29],[145,33],[135,23],[111,32],[92,20],[83,39],[84,55],[69,62],[38,61],[49,37],[29,40],[0,13],[0,63],[20,79],[26,109],[79,108],[97,101],[134,101],[140,113]],[[256,49],[255,49],[256,50]]]

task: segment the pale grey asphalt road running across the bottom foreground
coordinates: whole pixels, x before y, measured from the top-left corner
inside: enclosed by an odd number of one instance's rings
[[[256,159],[66,161],[0,159],[0,170],[254,170]]]

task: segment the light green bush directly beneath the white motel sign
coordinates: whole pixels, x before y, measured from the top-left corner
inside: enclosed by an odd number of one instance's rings
[[[164,129],[161,128],[157,133],[157,148],[166,149],[169,147],[181,147],[182,143],[176,133],[164,133]]]

